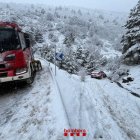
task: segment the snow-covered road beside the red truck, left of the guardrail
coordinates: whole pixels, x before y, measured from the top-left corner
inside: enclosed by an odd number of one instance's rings
[[[32,86],[1,90],[0,140],[61,140],[69,127],[48,65],[42,64]]]

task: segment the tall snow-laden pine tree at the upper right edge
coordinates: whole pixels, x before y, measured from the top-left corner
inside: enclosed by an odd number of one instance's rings
[[[140,0],[131,10],[122,37],[123,56],[126,63],[140,63]]]

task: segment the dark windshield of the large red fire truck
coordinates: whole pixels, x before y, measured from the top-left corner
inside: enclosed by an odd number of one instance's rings
[[[0,53],[20,48],[18,35],[13,29],[0,28]]]

